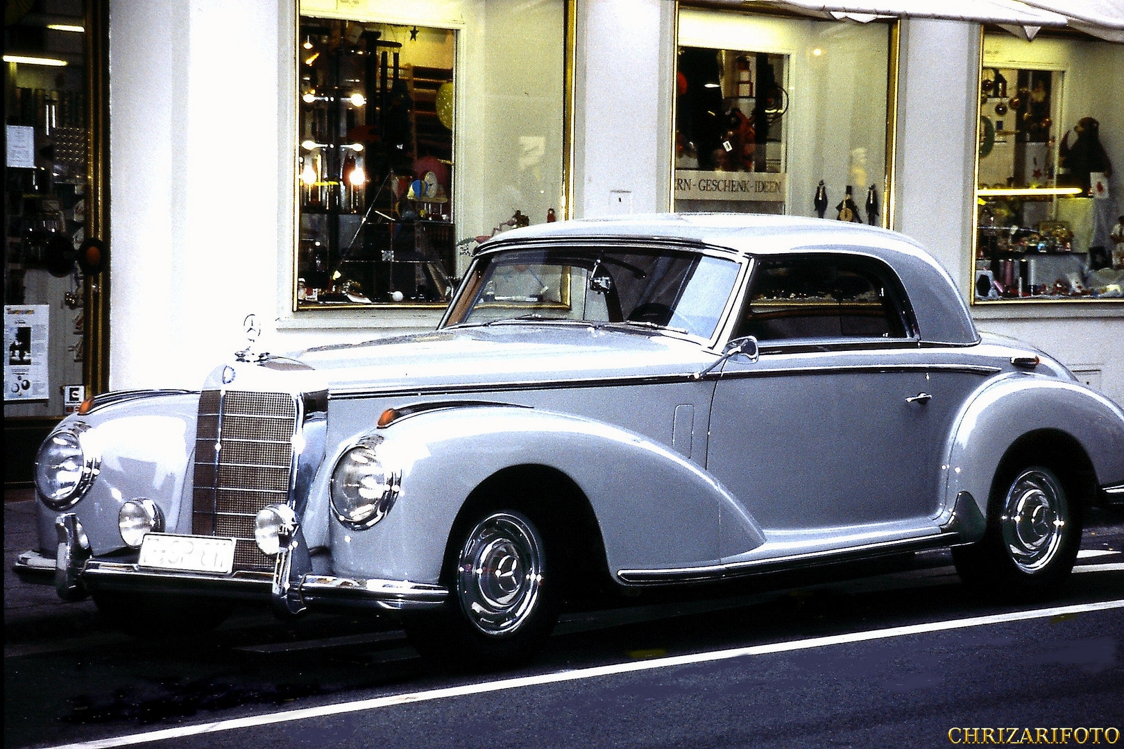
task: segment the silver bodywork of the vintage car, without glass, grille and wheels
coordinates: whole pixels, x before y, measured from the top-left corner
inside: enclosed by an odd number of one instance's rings
[[[202,392],[288,394],[297,412],[278,501],[296,510],[305,551],[229,575],[140,567],[118,528],[121,504],[145,497],[165,532],[199,532],[194,482],[210,445],[200,393],[102,396],[60,427],[81,424],[97,446],[92,483],[64,511],[40,503],[40,548],[20,566],[54,568],[72,597],[183,590],[272,597],[290,612],[432,606],[447,594],[457,514],[507,472],[573,490],[596,519],[600,548],[587,551],[615,585],[719,579],[976,541],[1004,456],[1043,433],[1087,459],[1084,499],[1124,499],[1124,412],[1045,354],[980,336],[953,281],[900,235],[781,217],[641,217],[510,231],[477,262],[559,246],[671,246],[738,272],[709,338],[537,320],[446,326],[451,311],[428,334],[217,367]],[[824,254],[889,267],[909,335],[724,354],[755,264]],[[378,426],[388,409],[398,415]],[[356,528],[333,510],[330,479],[364,439],[392,465],[398,492],[381,521]]]

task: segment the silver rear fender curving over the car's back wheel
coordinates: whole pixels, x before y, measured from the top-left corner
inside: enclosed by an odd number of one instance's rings
[[[942,466],[945,513],[951,513],[960,492],[970,492],[987,517],[991,482],[1003,456],[1019,437],[1041,429],[1076,439],[1100,486],[1124,482],[1124,412],[1115,403],[1076,383],[1010,374],[978,391],[957,420],[949,460]]]

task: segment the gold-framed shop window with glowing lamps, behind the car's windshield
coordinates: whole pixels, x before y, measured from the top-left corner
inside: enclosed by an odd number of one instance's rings
[[[566,3],[343,4],[300,4],[294,309],[443,308],[477,238],[564,214]]]

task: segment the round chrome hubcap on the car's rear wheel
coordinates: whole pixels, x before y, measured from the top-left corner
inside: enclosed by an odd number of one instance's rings
[[[1003,540],[1015,566],[1035,573],[1058,554],[1069,508],[1066,493],[1050,473],[1032,468],[1012,483],[1000,518]]]

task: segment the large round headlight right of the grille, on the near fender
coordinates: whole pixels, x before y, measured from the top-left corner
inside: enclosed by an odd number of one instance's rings
[[[398,475],[375,455],[373,441],[362,441],[332,472],[332,506],[341,522],[370,528],[382,520],[398,496]]]

